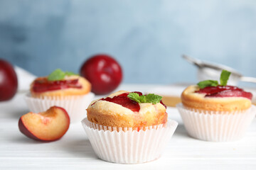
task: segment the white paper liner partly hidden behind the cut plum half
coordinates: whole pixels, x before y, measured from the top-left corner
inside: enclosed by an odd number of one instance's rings
[[[25,101],[28,108],[33,113],[47,111],[51,106],[65,108],[70,116],[70,123],[75,123],[86,116],[86,108],[94,98],[94,94],[89,93],[82,96],[44,97],[33,98],[30,93],[26,94]]]

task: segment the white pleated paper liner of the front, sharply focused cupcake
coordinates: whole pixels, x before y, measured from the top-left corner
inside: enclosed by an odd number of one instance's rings
[[[178,123],[168,120],[165,125],[156,125],[146,130],[112,128],[82,120],[87,137],[97,157],[119,164],[139,164],[158,159]]]

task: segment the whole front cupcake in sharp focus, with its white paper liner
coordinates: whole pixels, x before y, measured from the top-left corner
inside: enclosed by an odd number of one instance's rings
[[[138,164],[161,156],[178,125],[167,116],[161,96],[117,91],[92,101],[82,125],[97,157]]]

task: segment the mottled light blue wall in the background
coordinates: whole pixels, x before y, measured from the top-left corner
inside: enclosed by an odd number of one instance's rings
[[[182,54],[256,77],[256,1],[0,1],[0,57],[43,76],[107,53],[124,83],[196,81]]]

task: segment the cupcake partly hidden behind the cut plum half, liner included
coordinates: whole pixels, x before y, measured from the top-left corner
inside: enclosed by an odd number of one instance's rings
[[[72,123],[86,115],[85,108],[94,97],[87,79],[56,69],[47,77],[38,77],[30,86],[25,100],[33,113],[41,113],[51,106],[65,108]]]

